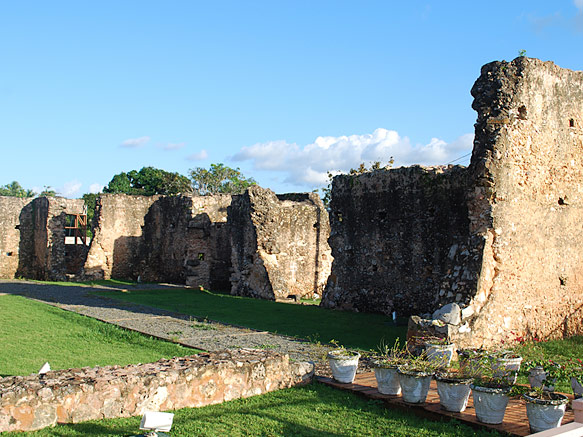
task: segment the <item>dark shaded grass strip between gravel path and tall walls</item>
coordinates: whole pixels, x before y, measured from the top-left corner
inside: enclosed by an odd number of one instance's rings
[[[198,289],[99,291],[97,294],[163,308],[193,317],[216,320],[313,342],[338,343],[376,350],[381,342],[401,342],[407,334],[381,314],[334,311],[315,305],[293,305],[269,300],[231,296]]]

